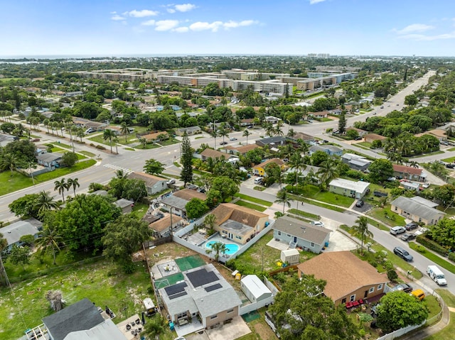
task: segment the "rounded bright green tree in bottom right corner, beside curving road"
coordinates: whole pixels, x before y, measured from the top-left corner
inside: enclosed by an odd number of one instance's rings
[[[386,333],[421,324],[428,317],[427,305],[400,290],[384,295],[377,311],[378,327]]]

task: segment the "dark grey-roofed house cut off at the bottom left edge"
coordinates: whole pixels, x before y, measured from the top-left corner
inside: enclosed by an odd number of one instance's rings
[[[105,319],[87,298],[43,318],[50,340],[64,340],[73,331],[92,329],[102,322]]]

